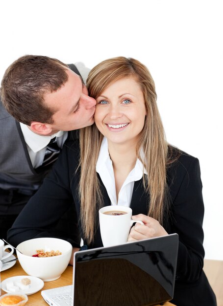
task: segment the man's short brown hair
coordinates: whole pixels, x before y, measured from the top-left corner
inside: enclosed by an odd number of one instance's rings
[[[12,63],[1,81],[1,100],[7,111],[18,121],[52,124],[55,109],[44,103],[44,94],[56,91],[68,80],[68,66],[57,59],[25,55]]]

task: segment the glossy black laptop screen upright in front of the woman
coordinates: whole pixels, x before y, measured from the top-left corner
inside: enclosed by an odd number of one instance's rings
[[[154,305],[173,298],[178,235],[75,253],[74,306]]]

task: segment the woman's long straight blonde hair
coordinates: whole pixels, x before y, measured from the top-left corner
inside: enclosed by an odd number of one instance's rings
[[[155,84],[146,66],[132,58],[116,57],[105,60],[95,66],[89,73],[87,87],[89,95],[97,98],[102,91],[115,81],[133,77],[144,94],[147,116],[137,144],[136,154],[141,159],[140,151],[145,154],[141,160],[148,175],[144,175],[143,183],[148,197],[148,215],[161,224],[166,209],[166,165],[168,144],[156,104]],[[84,239],[93,242],[97,229],[98,210],[103,206],[96,163],[103,135],[96,125],[80,130],[80,184],[81,201],[80,218]]]

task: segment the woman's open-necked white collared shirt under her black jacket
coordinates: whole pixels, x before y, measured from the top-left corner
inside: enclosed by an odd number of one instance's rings
[[[124,181],[117,201],[115,175],[112,161],[108,152],[108,141],[106,137],[103,138],[101,143],[99,158],[96,164],[96,171],[100,175],[100,178],[107,190],[108,196],[111,200],[111,205],[122,205],[127,207],[130,207],[134,182],[140,180],[143,174],[147,174],[146,169],[143,168],[142,162],[137,159],[135,167]]]

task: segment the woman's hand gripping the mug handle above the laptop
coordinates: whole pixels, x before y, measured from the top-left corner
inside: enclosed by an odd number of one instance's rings
[[[141,220],[144,225],[140,223],[135,223],[128,235],[128,241],[142,240],[168,235],[168,233],[156,219],[153,219],[143,214],[132,216],[132,219]]]

